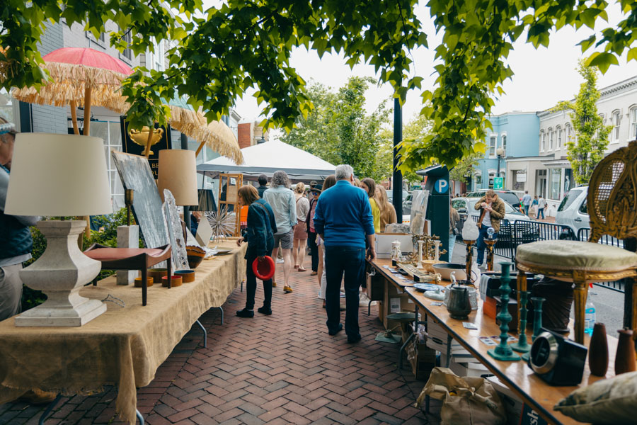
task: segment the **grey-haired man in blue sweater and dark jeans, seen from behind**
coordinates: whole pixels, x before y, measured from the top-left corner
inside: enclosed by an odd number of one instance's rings
[[[348,342],[360,341],[358,294],[365,278],[365,242],[367,258],[374,259],[374,219],[367,193],[352,185],[354,170],[339,165],[336,184],[321,193],[314,211],[314,228],[325,245],[327,288],[325,308],[330,335],[343,330],[340,323],[340,282],[345,273],[345,333]]]

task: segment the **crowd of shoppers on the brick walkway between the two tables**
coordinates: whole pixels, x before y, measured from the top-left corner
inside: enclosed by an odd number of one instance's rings
[[[348,341],[360,340],[358,310],[360,288],[365,283],[365,259],[374,259],[374,234],[396,222],[396,210],[384,187],[373,179],[359,181],[348,165],[336,167],[335,174],[322,183],[312,181],[291,187],[285,171],[275,171],[268,187],[262,174],[259,186],[239,189],[239,202],[248,205],[247,228],[237,244],[248,242],[246,251],[246,307],[236,314],[254,317],[256,276],[252,263],[268,254],[276,259],[283,251],[284,292],[292,293],[292,270],[304,272],[306,245],[311,256],[311,276],[317,276],[319,298],[327,313],[328,334],[345,329]],[[292,268],[292,263],[294,268]],[[345,327],[340,323],[340,298],[345,296]],[[272,314],[272,288],[263,281],[264,302],[258,312]]]

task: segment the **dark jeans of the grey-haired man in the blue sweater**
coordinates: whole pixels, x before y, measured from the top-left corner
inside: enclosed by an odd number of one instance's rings
[[[326,246],[325,268],[327,287],[325,308],[328,331],[338,331],[340,324],[340,282],[345,273],[345,332],[358,336],[358,290],[365,275],[365,248],[354,246]]]

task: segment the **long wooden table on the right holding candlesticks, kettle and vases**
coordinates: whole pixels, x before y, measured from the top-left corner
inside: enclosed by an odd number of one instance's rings
[[[591,375],[588,369],[588,363],[586,363],[584,376],[580,385],[575,387],[553,387],[548,385],[541,380],[524,361],[498,361],[488,355],[487,351],[493,347],[486,346],[481,343],[478,338],[480,336],[500,335],[500,327],[495,324],[495,320],[483,314],[482,300],[478,300],[478,310],[471,312],[469,319],[452,319],[449,317],[447,307],[431,305],[431,303],[435,301],[424,297],[423,293],[415,290],[415,288],[413,288],[413,281],[399,280],[393,273],[384,268],[384,266],[391,266],[391,260],[376,259],[371,261],[371,264],[377,270],[377,273],[381,273],[389,283],[403,290],[403,292],[408,293],[417,307],[416,317],[418,317],[418,309],[423,310],[427,319],[432,319],[434,322],[439,323],[461,346],[485,365],[493,375],[498,377],[498,379],[515,392],[524,403],[531,406],[532,409],[538,412],[550,424],[581,424],[581,422],[575,421],[575,419],[554,411],[553,406],[578,387],[585,387],[597,380],[611,378],[615,375],[614,357],[617,339],[608,336],[609,368],[605,377]],[[449,282],[443,282],[442,284],[447,285]],[[515,281],[512,281],[512,285],[515,285]],[[465,329],[462,322],[472,322],[476,324],[478,329]],[[517,331],[512,329],[509,333],[517,334]],[[573,334],[572,328],[571,334]],[[530,335],[527,334],[527,336],[529,336],[530,344]],[[570,335],[570,337],[572,339],[573,335]],[[585,346],[588,346],[589,343],[589,337],[585,336]]]

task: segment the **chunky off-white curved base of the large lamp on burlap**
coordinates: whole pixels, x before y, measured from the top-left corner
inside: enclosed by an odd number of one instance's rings
[[[47,238],[47,249],[38,261],[20,271],[20,278],[48,299],[16,316],[16,326],[82,326],[106,311],[103,302],[79,295],[101,269],[99,261],[89,259],[77,246],[84,227],[84,220],[38,222],[38,229]]]

